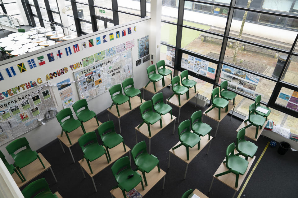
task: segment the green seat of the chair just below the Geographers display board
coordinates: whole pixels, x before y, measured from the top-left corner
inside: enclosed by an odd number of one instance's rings
[[[37,159],[37,153],[36,151],[32,151],[31,149],[24,149],[20,151],[16,157],[14,158],[15,160],[15,165],[19,166],[19,168],[23,168],[30,164],[32,161]]]

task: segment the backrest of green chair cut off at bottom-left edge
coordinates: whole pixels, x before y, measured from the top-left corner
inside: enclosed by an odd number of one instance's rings
[[[40,193],[40,192],[44,192],[44,191],[51,192],[47,181],[44,178],[42,178],[42,179],[38,179],[34,182],[29,183],[29,185],[26,186],[24,188],[24,190],[22,190],[22,194],[24,195],[25,198],[31,198],[36,193],[38,193],[38,192]],[[52,194],[52,192],[51,192],[51,194]]]

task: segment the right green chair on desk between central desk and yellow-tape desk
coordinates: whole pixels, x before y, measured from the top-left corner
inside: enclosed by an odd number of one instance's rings
[[[194,112],[190,117],[190,120],[192,122],[192,131],[199,136],[208,134],[208,140],[210,140],[210,131],[212,128],[208,124],[202,122],[202,111],[199,110]]]

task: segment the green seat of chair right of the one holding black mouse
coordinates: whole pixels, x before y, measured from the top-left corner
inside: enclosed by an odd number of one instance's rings
[[[159,160],[153,155],[142,153],[138,155],[135,162],[139,170],[149,173],[158,164]]]

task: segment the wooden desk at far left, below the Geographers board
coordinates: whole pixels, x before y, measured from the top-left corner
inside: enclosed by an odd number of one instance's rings
[[[21,171],[22,171],[24,177],[26,178],[26,181],[24,181],[24,182],[22,182],[20,180],[20,178],[17,176],[17,174],[14,172],[11,176],[15,180],[15,182],[19,188],[24,186],[26,183],[30,182],[32,179],[34,179],[35,177],[42,174],[44,171],[46,171],[48,169],[51,170],[53,177],[57,183],[57,179],[54,175],[51,164],[43,157],[43,155],[41,153],[38,153],[38,155],[39,155],[41,161],[43,161],[43,164],[46,168],[43,168],[43,165],[40,163],[39,159],[36,159],[33,162],[31,162],[30,164],[28,164],[27,166],[21,168]]]

